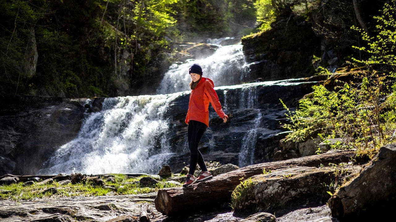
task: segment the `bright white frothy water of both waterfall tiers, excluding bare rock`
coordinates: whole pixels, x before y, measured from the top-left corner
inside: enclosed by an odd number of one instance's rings
[[[214,41],[213,44],[219,43]],[[171,152],[169,141],[164,136],[171,129],[169,120],[162,114],[169,102],[190,93],[188,68],[193,63],[202,66],[204,77],[213,79],[216,90],[223,90],[226,113],[228,90],[242,88],[238,96],[244,107],[239,108],[257,109],[256,87],[293,84],[287,80],[242,84],[244,75],[247,75],[242,45],[219,46],[208,58],[172,65],[157,95],[106,98],[102,111],[87,114],[78,136],[59,147],[39,173],[158,173],[166,161],[176,155]],[[256,132],[261,119],[260,111],[257,113],[257,124],[246,132],[242,141],[240,166],[253,163]],[[216,142],[210,138],[210,128],[206,134],[211,151]],[[188,152],[188,147],[186,149]]]

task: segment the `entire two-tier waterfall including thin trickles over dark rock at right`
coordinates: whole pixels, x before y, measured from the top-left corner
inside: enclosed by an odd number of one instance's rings
[[[275,105],[271,109],[276,114],[268,113],[272,105],[263,104],[262,98],[269,94],[272,104],[279,103],[278,98],[286,99],[293,90],[286,85],[299,83],[284,80],[241,85],[248,73],[242,45],[236,44],[221,46],[208,58],[172,65],[157,95],[106,98],[102,110],[87,114],[78,136],[59,147],[39,173],[156,174],[164,164],[182,168],[180,163],[188,162],[189,157],[184,118],[190,93],[188,68],[193,63],[200,64],[204,77],[214,81],[225,113],[236,116],[225,124],[216,122],[219,118],[209,108],[210,119],[215,123],[209,123],[204,134],[206,142],[202,146],[207,148],[206,155],[213,153],[215,159],[219,152],[236,153],[234,164],[253,164],[257,135],[282,132],[276,126],[263,127],[268,125],[263,122],[278,115],[279,108]],[[306,94],[305,88],[310,87],[296,88],[293,96]],[[267,102],[268,98],[264,100]]]

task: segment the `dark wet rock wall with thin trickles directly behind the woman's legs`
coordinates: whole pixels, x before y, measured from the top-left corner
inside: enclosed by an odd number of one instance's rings
[[[279,99],[288,106],[294,107],[299,98],[312,91],[313,84],[271,85],[247,90],[248,92],[239,88],[228,90],[226,95],[223,90],[217,90],[229,120],[223,123],[209,107],[209,128],[204,133],[199,147],[205,161],[243,167],[240,166],[240,152],[241,147],[244,146],[248,149],[247,152],[253,153],[251,156],[254,157],[249,160],[251,164],[272,161],[274,154],[282,150],[279,145],[280,139],[286,136],[282,134],[286,129],[280,125],[280,122],[285,120],[286,111]],[[252,90],[255,92],[251,92]],[[169,128],[172,129],[167,137],[174,152],[178,153],[168,162],[174,171],[181,170],[185,166],[183,162],[188,162],[190,155],[187,146],[187,125],[184,122],[188,98],[189,94],[179,97],[171,103],[166,112],[166,117],[170,119]],[[252,137],[247,138],[246,134],[250,131]],[[296,152],[295,156],[282,153],[278,156],[278,160],[298,157],[298,150]]]

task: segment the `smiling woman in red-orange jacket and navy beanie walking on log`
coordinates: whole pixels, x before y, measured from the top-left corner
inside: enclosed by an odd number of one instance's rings
[[[202,135],[209,126],[209,102],[215,109],[217,115],[224,122],[227,122],[228,116],[225,115],[219,97],[213,89],[214,84],[211,79],[202,77],[202,68],[199,64],[193,64],[188,70],[192,79],[190,83],[191,94],[188,103],[188,111],[185,122],[188,124],[188,147],[190,148],[190,170],[183,186],[191,186],[197,181],[203,181],[212,177],[212,174],[206,168],[204,158],[198,150],[198,143]],[[201,167],[201,175],[194,177],[196,165]]]

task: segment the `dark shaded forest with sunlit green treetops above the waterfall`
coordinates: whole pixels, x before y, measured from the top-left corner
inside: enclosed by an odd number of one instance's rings
[[[316,54],[304,63],[312,74],[315,59],[337,68],[366,56],[352,48],[365,43],[350,27],[375,29],[382,7],[377,0],[3,0],[0,95],[133,95],[177,62],[177,44],[238,36],[256,38],[256,52],[269,43],[296,47],[290,38],[272,41],[286,30],[306,39],[301,53]],[[329,49],[336,64],[327,61]]]

